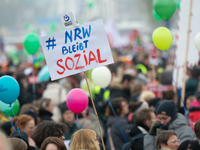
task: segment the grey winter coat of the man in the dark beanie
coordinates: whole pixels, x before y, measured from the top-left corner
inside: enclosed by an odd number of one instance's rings
[[[177,118],[169,124],[168,130],[174,131],[177,134],[177,138],[184,142],[186,140],[193,140],[195,134],[188,126],[185,116],[177,113]],[[147,134],[144,137],[144,150],[155,149],[156,136]]]

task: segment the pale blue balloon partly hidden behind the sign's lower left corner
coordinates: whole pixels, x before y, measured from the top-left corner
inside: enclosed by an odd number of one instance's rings
[[[38,82],[45,82],[48,81],[49,79],[50,79],[49,69],[47,65],[45,65],[38,73]]]

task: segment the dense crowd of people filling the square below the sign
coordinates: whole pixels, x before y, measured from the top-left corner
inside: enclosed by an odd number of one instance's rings
[[[130,47],[127,47],[131,51]],[[188,68],[184,105],[174,88],[170,71],[171,56],[159,57],[159,67],[149,63],[142,50],[130,59],[113,50],[112,79],[102,89],[94,85],[87,72],[90,97],[84,74],[60,80],[30,82],[45,65],[36,67],[21,61],[14,65],[9,58],[0,74],[14,77],[20,86],[20,111],[10,118],[0,112],[0,149],[2,150],[197,150],[200,149],[200,86],[198,67]],[[141,67],[146,69],[146,72]],[[32,67],[29,74],[25,73]],[[103,80],[103,79],[100,79]],[[173,87],[161,97],[148,86]],[[68,92],[81,88],[88,94],[87,108],[76,116],[66,105]],[[100,129],[91,103],[100,120]],[[102,134],[101,134],[102,133]],[[102,137],[102,138],[101,138]],[[103,140],[102,140],[103,139]]]

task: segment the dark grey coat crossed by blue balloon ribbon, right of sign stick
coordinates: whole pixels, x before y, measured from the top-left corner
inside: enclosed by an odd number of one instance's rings
[[[112,137],[112,141],[113,141],[115,150],[121,150],[123,144],[126,143],[126,141],[125,141],[125,139],[124,139],[124,137],[123,137],[123,135],[120,131],[119,125],[121,127],[121,130],[123,131],[123,134],[126,137],[126,140],[130,141],[130,139],[131,139],[130,135],[127,132],[127,129],[129,128],[129,124],[128,124],[127,119],[122,118],[120,116],[109,117],[108,120],[107,120],[106,126],[107,126],[107,128],[110,128],[110,130],[111,130],[111,137]],[[106,145],[109,148],[111,147],[110,143],[109,143],[109,138],[107,138]]]

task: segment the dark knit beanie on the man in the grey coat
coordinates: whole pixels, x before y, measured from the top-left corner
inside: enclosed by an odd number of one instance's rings
[[[164,100],[158,106],[156,114],[157,115],[159,115],[159,114],[167,115],[167,116],[173,117],[174,111],[175,111],[174,109],[176,109],[176,107],[172,100]]]

